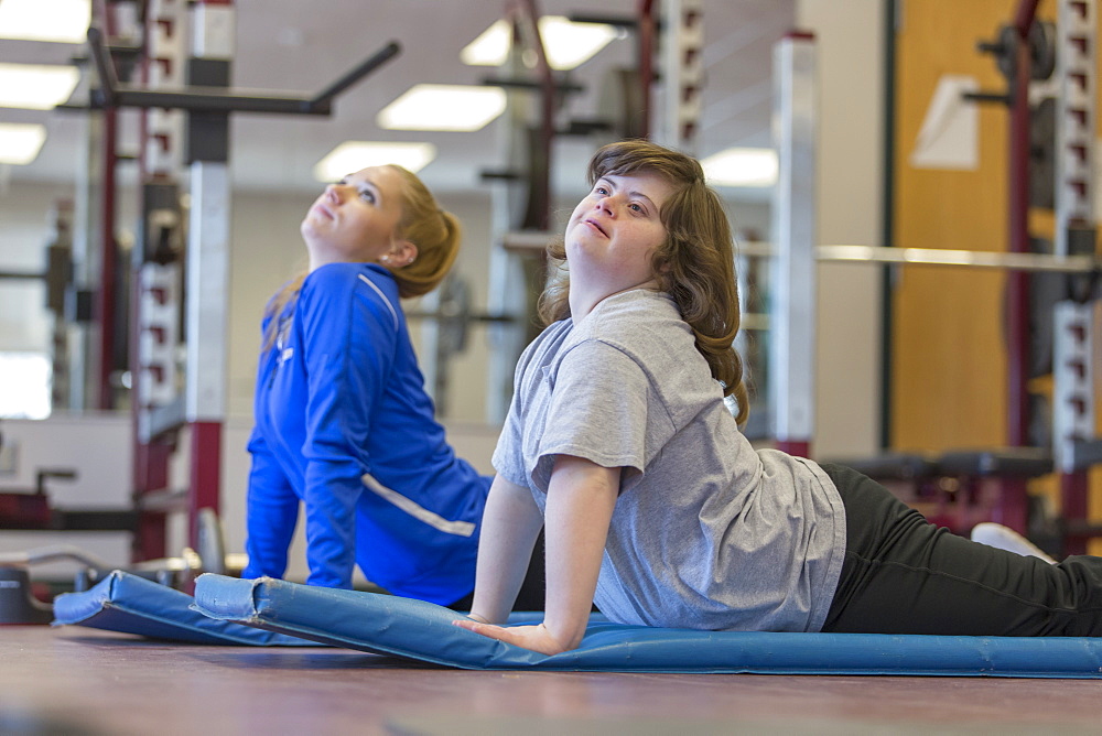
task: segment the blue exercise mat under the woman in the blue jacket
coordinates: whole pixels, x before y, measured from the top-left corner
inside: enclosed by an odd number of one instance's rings
[[[54,626],[74,624],[153,639],[204,645],[316,647],[316,641],[218,621],[192,608],[195,599],[116,570],[95,586],[54,598]]]

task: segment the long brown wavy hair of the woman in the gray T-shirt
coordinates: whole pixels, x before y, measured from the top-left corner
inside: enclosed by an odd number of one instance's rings
[[[707,360],[724,396],[738,402],[739,424],[749,414],[743,361],[733,347],[742,318],[735,279],[734,241],[720,196],[704,182],[700,162],[649,141],[601,148],[590,161],[590,186],[607,175],[651,173],[673,193],[659,213],[666,239],[651,256],[659,289],[670,294],[689,323],[696,349]],[[570,315],[570,268],[563,241],[548,248],[552,271],[540,297],[540,317],[550,324]]]

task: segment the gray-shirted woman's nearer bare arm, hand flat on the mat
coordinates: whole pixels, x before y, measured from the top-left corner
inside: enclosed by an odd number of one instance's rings
[[[619,491],[619,475],[618,467],[602,467],[581,457],[560,455],[555,458],[545,511],[548,593],[542,624],[505,628],[460,620],[456,625],[544,654],[576,648],[590,620],[608,524]],[[485,527],[482,543],[493,544],[487,539],[493,533]],[[478,587],[482,587],[480,548],[478,572]],[[485,616],[478,600],[476,588],[473,614]]]

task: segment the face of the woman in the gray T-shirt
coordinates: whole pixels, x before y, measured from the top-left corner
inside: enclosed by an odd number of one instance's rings
[[[623,291],[652,280],[650,257],[666,239],[659,213],[672,193],[673,187],[652,173],[597,180],[566,224],[571,281],[596,278]]]

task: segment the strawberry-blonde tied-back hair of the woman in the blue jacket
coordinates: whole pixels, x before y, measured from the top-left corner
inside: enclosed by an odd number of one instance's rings
[[[399,199],[401,217],[395,237],[409,240],[417,246],[417,258],[409,266],[390,267],[379,263],[393,275],[398,282],[398,295],[402,299],[422,296],[440,285],[447,272],[455,264],[460,252],[463,228],[458,218],[441,208],[436,198],[417,174],[397,164],[388,164],[401,177]],[[264,309],[266,317],[274,317],[283,313],[289,303],[298,299],[302,282],[309,272],[302,272],[276,292]],[[278,320],[271,320],[264,333],[263,349],[271,349],[276,344]]]

